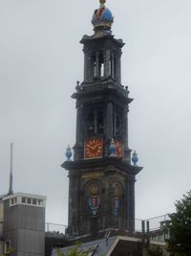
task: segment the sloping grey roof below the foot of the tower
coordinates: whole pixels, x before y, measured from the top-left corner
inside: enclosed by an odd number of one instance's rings
[[[102,256],[106,255],[111,248],[112,244],[117,240],[117,237],[111,237],[111,238],[104,238],[84,244],[80,244],[79,250],[81,252],[89,252],[90,256]],[[67,256],[70,249],[74,248],[76,245],[61,248],[61,252],[64,253],[65,256]],[[53,250],[52,256],[57,256],[57,249]]]

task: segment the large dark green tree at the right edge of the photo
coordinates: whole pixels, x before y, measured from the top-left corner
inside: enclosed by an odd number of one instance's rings
[[[176,213],[170,214],[169,251],[173,256],[191,255],[191,191],[176,201]]]

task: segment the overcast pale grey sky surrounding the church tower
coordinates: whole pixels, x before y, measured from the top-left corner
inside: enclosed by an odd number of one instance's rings
[[[174,210],[191,188],[191,1],[107,0],[113,34],[126,45],[130,148],[137,176],[136,216]],[[0,194],[48,197],[46,221],[67,223],[68,177],[60,167],[74,146],[70,96],[83,80],[79,40],[92,35],[98,0],[0,0]]]

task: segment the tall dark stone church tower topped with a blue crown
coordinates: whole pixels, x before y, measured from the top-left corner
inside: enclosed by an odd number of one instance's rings
[[[82,235],[117,228],[135,229],[135,181],[141,170],[131,165],[128,110],[132,99],[121,84],[121,49],[112,35],[113,14],[100,0],[92,23],[94,35],[84,35],[84,80],[77,81],[74,160],[69,171],[69,232]]]

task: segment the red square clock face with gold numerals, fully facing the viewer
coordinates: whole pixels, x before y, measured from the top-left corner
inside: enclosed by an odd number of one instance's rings
[[[103,155],[103,140],[101,138],[90,138],[85,141],[84,158],[98,158]]]

